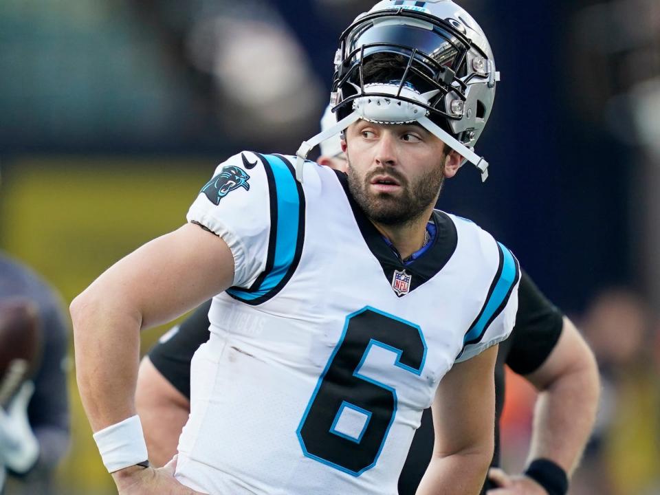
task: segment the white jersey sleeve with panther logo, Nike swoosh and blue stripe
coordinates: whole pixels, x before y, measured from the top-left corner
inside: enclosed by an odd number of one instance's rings
[[[220,164],[188,221],[220,236],[234,256],[227,293],[259,305],[295,272],[305,232],[305,194],[290,157],[244,151]]]

